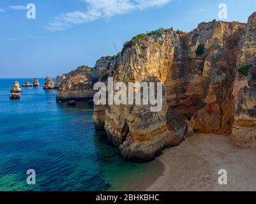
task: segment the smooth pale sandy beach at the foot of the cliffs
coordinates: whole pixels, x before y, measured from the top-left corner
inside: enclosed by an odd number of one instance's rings
[[[239,149],[229,136],[195,134],[158,157],[165,169],[144,191],[255,191],[256,149]],[[227,170],[227,185],[218,171]]]

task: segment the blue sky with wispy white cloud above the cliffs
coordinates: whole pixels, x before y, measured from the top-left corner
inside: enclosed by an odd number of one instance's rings
[[[36,19],[25,6],[36,5]],[[246,22],[255,0],[1,0],[0,78],[56,77],[114,55],[125,41],[159,27],[191,31],[218,18]]]

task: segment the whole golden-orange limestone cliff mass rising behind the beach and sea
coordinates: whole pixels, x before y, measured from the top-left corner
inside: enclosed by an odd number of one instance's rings
[[[80,81],[88,86],[77,85],[73,75],[64,80],[57,98],[91,90],[93,77],[86,74],[93,72],[95,82],[107,77],[125,84],[162,82],[160,112],[151,112],[150,105],[94,107],[96,128],[105,129],[124,159],[154,159],[193,131],[231,134],[240,147],[256,147],[255,26],[256,12],[248,24],[213,21],[190,33],[158,29],[139,34],[120,54],[81,71]]]

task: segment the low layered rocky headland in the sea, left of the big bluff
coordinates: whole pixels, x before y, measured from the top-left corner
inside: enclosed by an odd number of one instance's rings
[[[57,101],[89,100],[93,95],[93,70],[88,66],[80,66],[64,75],[56,99]]]

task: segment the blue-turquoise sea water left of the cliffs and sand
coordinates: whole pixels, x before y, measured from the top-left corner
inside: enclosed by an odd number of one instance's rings
[[[15,80],[21,86],[33,79],[0,79],[0,191],[133,190],[160,170],[157,161],[123,161],[95,131],[86,103],[56,103],[56,91],[41,87],[22,88],[21,99],[11,101]],[[27,185],[29,169],[36,185]]]

